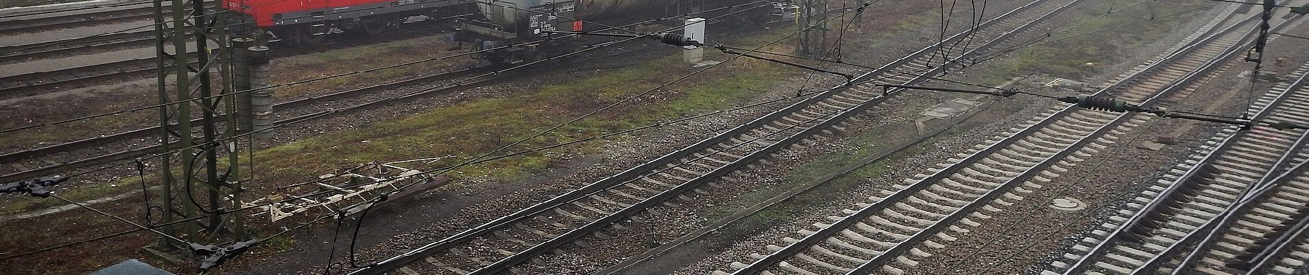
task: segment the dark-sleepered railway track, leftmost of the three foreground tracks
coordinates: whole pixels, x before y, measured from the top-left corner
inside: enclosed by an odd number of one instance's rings
[[[1037,22],[1072,5],[1076,0],[1029,3],[1013,12],[983,22],[977,33],[961,33],[941,44],[974,39],[977,48],[952,48],[952,59],[978,56],[986,48],[1004,46],[1025,34]],[[939,46],[939,44],[937,44]],[[937,74],[952,66],[935,66],[941,57],[929,46],[893,61],[877,72],[916,72]],[[894,83],[919,83],[925,77],[895,73],[869,73],[859,78]],[[843,119],[860,113],[882,93],[872,83],[834,89],[795,103],[716,137],[700,141],[658,159],[602,179],[517,212],[495,219],[444,240],[385,259],[352,274],[380,274],[399,270],[406,274],[497,274],[530,265],[537,255],[579,244],[588,236],[603,239],[603,229],[620,227],[623,220],[652,211],[651,206],[675,205],[675,199],[702,190],[704,185],[730,181],[733,172],[791,146],[810,143],[809,138],[829,128],[840,128]],[[829,132],[830,133],[830,132]]]

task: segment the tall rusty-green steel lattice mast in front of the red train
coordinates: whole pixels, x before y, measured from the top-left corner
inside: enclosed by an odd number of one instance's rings
[[[158,176],[162,223],[195,219],[241,206],[241,173],[236,134],[232,48],[225,12],[206,9],[203,0],[154,1],[157,96],[161,106]],[[217,4],[217,3],[215,3]],[[217,95],[217,96],[215,96]],[[177,103],[177,104],[169,104]],[[199,125],[195,125],[195,124]],[[243,130],[243,129],[242,129]],[[162,228],[191,242],[250,240],[240,214],[211,215]],[[161,240],[154,249],[177,254],[185,244]],[[190,254],[190,253],[182,253]]]

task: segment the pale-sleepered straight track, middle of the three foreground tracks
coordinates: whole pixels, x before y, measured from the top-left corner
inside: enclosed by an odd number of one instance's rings
[[[1189,94],[1190,80],[1220,68],[1242,44],[1238,33],[1254,21],[1228,20],[1200,44],[1138,68],[1118,83],[1098,91],[1144,106],[1161,106]],[[1247,42],[1246,42],[1247,43]],[[1118,136],[1144,123],[1147,115],[1105,113],[1076,106],[1047,111],[992,137],[971,152],[941,163],[927,173],[906,179],[840,214],[830,223],[801,231],[798,239],[770,245],[771,254],[751,255],[751,263],[733,262],[715,274],[905,274],[967,232],[979,220],[1003,211],[1024,193],[1113,143]]]

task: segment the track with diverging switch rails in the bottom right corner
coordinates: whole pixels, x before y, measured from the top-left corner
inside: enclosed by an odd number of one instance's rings
[[[1306,72],[1258,99],[1254,117],[1309,123]],[[1295,274],[1309,261],[1306,134],[1225,129],[1043,274]]]

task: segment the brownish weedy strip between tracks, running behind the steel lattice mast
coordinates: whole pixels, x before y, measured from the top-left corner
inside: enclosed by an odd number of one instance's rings
[[[364,47],[351,47],[274,59],[271,61],[271,73],[275,76],[274,83],[280,85],[325,76],[365,70],[378,65],[403,64],[433,56],[448,56],[456,53],[445,51],[445,42],[439,36],[385,42]],[[424,52],[427,55],[395,55],[397,52]],[[424,74],[453,70],[454,68],[462,68],[467,64],[470,64],[470,59],[456,57],[450,60],[427,61],[393,69],[329,78],[309,83],[278,87],[275,89],[274,98],[275,100],[285,102],[309,95],[342,91],[350,87],[393,82]],[[0,111],[5,113],[16,113],[14,116],[17,116],[10,120],[0,121],[0,129],[12,129],[35,123],[75,119],[92,113],[107,113],[158,103],[153,83],[149,86],[120,87],[118,90],[130,91],[130,94],[96,93],[94,95],[65,96],[59,100],[30,102],[20,103],[17,106],[0,107]],[[54,102],[88,102],[92,104],[81,104],[76,109],[68,111],[65,108],[67,106],[56,106]],[[198,117],[199,108],[192,107],[192,117]],[[5,133],[5,138],[0,138],[0,149],[42,145],[41,142],[52,145],[93,137],[102,133],[117,133],[124,129],[137,129],[152,125],[158,125],[158,111],[148,109],[120,113],[103,119]]]

